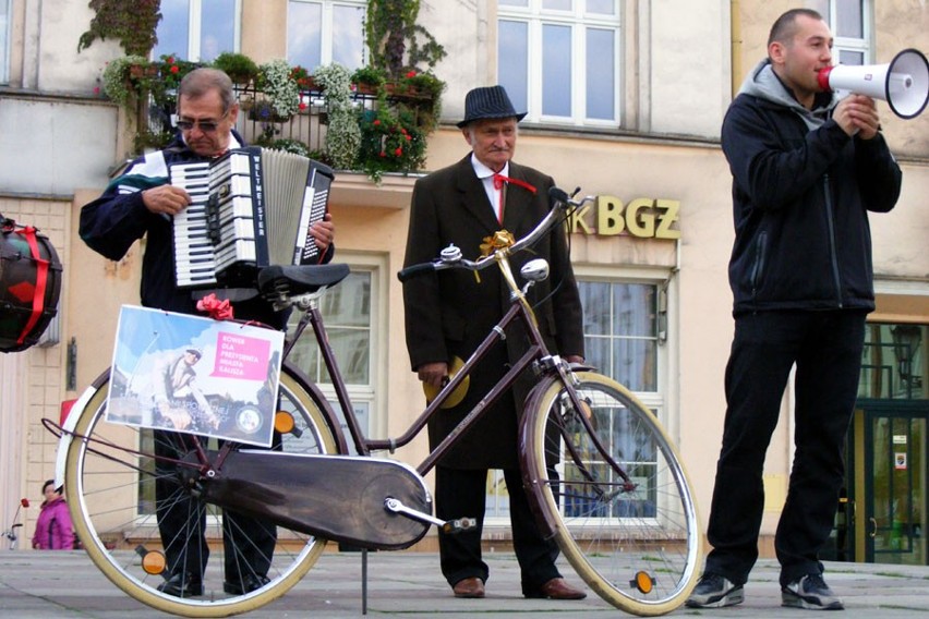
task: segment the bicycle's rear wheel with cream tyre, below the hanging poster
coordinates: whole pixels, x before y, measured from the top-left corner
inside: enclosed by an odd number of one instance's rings
[[[179,535],[162,544],[158,530],[155,505],[156,471],[155,441],[164,441],[168,433],[106,421],[109,379],[97,386],[87,404],[71,414],[80,415],[74,428],[75,438],[67,453],[64,489],[71,508],[75,532],[91,559],[122,591],[143,604],[186,617],[226,617],[253,610],[279,597],[293,586],[315,563],[325,547],[325,541],[291,531],[282,526],[257,522],[262,534],[267,534],[264,547],[273,548],[273,556],[246,543],[246,535],[224,535],[237,526],[237,519],[224,515],[222,510],[207,505],[172,483],[169,501],[185,505],[188,525],[193,535]],[[277,449],[294,453],[336,453],[333,436],[321,403],[301,380],[285,368],[279,383],[279,411],[289,413],[294,427],[280,436]],[[177,436],[174,433],[170,433]],[[206,446],[205,446],[206,447]],[[159,466],[161,469],[161,466]],[[164,503],[165,501],[162,501]],[[237,517],[239,518],[239,517]],[[158,590],[167,572],[159,572],[159,561],[165,562],[165,545],[179,547],[179,554],[203,553],[200,534],[205,523],[208,561],[203,574],[203,592],[188,597],[176,597]],[[234,542],[234,537],[243,542]],[[225,541],[224,541],[225,538]],[[269,539],[269,544],[268,544]],[[248,546],[248,547],[246,547]],[[261,553],[260,556],[256,554]],[[203,555],[200,555],[201,557]],[[250,563],[269,565],[269,582],[260,588],[245,592],[234,583],[225,582],[225,566],[240,558],[251,557]],[[244,566],[244,570],[252,566]],[[154,573],[153,573],[154,572]],[[232,588],[231,593],[225,590]]]

